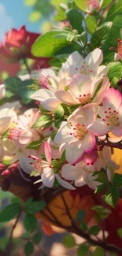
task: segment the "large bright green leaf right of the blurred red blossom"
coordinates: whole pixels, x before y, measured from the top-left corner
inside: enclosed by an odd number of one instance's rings
[[[53,57],[57,50],[61,50],[68,44],[66,39],[54,38],[57,34],[61,32],[51,31],[39,36],[31,47],[31,53],[35,57]]]

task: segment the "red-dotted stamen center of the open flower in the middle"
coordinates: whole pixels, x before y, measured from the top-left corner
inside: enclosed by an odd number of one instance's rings
[[[72,122],[69,123],[72,127]],[[69,135],[72,135],[74,138],[83,139],[83,137],[87,134],[87,128],[84,124],[75,124],[72,127],[73,132],[70,132]]]

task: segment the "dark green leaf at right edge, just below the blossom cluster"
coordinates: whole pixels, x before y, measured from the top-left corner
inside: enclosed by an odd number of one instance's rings
[[[109,185],[105,193],[105,202],[107,202],[109,206],[112,206],[114,208],[116,206],[116,203],[119,200],[119,197],[120,197],[119,187],[113,187]]]

